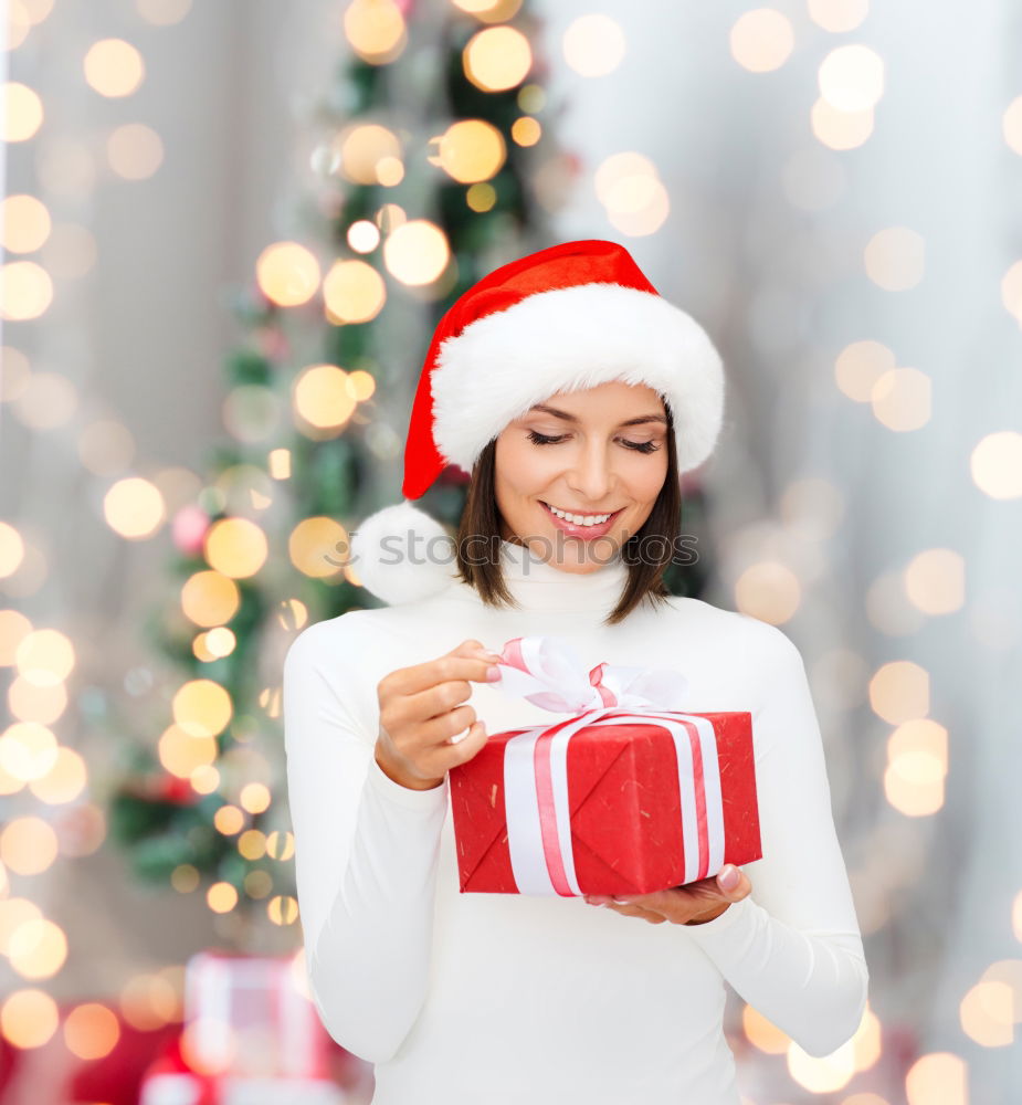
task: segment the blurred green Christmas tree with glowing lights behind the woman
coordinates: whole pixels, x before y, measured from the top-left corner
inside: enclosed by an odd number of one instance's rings
[[[314,185],[293,238],[235,297],[246,338],[225,364],[229,436],[173,518],[149,625],[172,665],[171,716],[158,739],[122,741],[110,810],[139,876],[280,925],[297,916],[278,800],[284,653],[304,625],[377,604],[344,568],[347,534],[400,497],[432,330],[483,275],[551,243],[547,217],[578,176],[550,135],[523,0],[356,0],[344,27],[351,55],[309,119]],[[466,480],[450,469],[422,499],[452,533]],[[694,593],[704,569],[668,583]]]

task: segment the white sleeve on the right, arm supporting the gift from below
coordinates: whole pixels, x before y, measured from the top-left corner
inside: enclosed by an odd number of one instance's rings
[[[858,1028],[868,970],[802,657],[780,630],[767,636],[752,717],[763,855],[744,865],[748,897],[685,930],[745,1001],[823,1056]],[[746,663],[762,665],[755,651]]]

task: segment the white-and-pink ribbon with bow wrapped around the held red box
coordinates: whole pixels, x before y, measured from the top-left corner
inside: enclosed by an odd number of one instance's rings
[[[671,734],[677,754],[684,882],[720,870],[725,841],[716,734],[705,717],[681,712],[688,697],[684,675],[610,664],[597,664],[587,673],[566,641],[546,636],[508,641],[499,666],[499,685],[508,693],[545,709],[578,715],[525,729],[505,746],[508,850],[519,893],[582,894],[571,846],[568,743],[590,725],[653,724]]]

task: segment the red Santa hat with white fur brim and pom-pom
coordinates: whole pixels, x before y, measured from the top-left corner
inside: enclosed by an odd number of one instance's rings
[[[681,472],[713,452],[724,413],[720,356],[622,245],[562,242],[495,269],[464,292],[438,324],[419,379],[404,502],[351,534],[362,586],[389,603],[446,588],[457,571],[453,543],[410,501],[449,464],[471,473],[489,441],[535,403],[610,380],[646,385],[670,404]]]

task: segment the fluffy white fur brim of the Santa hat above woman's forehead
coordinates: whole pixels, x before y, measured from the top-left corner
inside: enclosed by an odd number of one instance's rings
[[[713,452],[724,367],[706,332],[655,293],[600,283],[536,292],[446,338],[432,376],[433,439],[471,472],[534,403],[610,380],[644,383],[671,403],[682,472]]]

